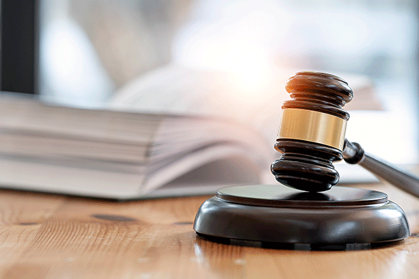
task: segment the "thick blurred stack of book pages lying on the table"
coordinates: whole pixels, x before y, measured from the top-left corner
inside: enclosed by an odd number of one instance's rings
[[[234,121],[0,98],[3,187],[131,199],[258,183],[263,137]]]

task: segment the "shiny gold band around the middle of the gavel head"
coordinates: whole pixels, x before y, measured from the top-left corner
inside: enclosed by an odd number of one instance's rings
[[[346,120],[314,110],[284,109],[279,122],[277,141],[305,140],[344,149]]]

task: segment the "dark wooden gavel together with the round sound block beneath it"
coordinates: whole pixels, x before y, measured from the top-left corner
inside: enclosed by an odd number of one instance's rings
[[[280,185],[220,188],[196,213],[196,233],[223,243],[311,248],[381,245],[409,237],[406,213],[387,194],[335,186],[339,174],[333,163],[345,160],[419,197],[418,177],[346,140],[349,114],[342,107],[353,98],[348,83],[335,75],[300,72],[288,80],[286,91],[292,100],[282,105],[274,144],[282,155],[271,165]]]

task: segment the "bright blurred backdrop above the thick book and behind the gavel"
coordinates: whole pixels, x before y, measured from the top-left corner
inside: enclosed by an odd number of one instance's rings
[[[24,1],[21,1],[24,5]],[[418,2],[39,0],[36,93],[70,106],[221,115],[274,142],[286,80],[339,75],[347,137],[418,163]],[[273,149],[272,149],[273,150]]]

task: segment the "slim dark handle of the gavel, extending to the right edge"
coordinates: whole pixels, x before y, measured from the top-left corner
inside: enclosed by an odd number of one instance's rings
[[[356,143],[345,139],[344,160],[346,163],[358,164],[369,170],[379,178],[391,183],[405,192],[419,197],[419,177],[385,163],[383,160],[374,158]]]

